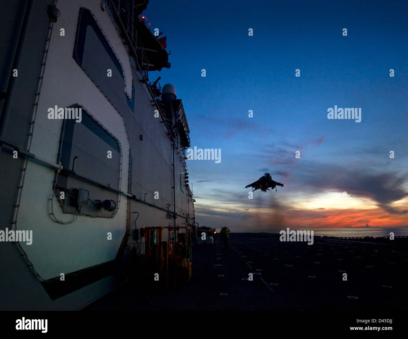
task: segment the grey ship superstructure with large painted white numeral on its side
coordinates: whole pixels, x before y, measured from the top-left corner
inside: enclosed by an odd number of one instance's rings
[[[138,229],[195,224],[184,107],[149,80],[170,64],[147,2],[1,5],[1,309],[81,308],[126,281]]]

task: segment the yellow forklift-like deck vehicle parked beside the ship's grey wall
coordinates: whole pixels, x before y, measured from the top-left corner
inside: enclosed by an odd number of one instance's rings
[[[191,227],[143,227],[129,242],[130,277],[155,288],[177,287],[191,278]],[[166,239],[166,241],[163,241]]]

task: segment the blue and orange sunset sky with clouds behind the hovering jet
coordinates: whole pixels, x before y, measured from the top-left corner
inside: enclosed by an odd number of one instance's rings
[[[149,2],[171,51],[149,78],[175,85],[192,147],[221,149],[219,164],[187,161],[200,226],[408,227],[407,7]],[[361,108],[361,122],[329,120],[335,105]],[[286,186],[248,199],[264,172]]]

